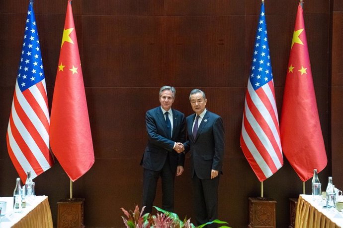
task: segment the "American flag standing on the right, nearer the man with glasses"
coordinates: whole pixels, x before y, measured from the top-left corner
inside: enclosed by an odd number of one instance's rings
[[[259,181],[283,165],[264,3],[261,4],[255,48],[243,113],[241,147]]]

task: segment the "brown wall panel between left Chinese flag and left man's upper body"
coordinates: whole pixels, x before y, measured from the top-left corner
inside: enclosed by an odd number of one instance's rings
[[[147,140],[145,113],[160,104],[158,94],[158,88],[86,89],[96,158],[142,157]]]

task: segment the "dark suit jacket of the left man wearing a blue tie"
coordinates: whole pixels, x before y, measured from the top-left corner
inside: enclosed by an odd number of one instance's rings
[[[151,109],[146,113],[145,122],[149,140],[141,161],[144,169],[162,170],[167,156],[173,172],[176,171],[177,166],[184,165],[184,154],[178,154],[172,148],[174,142],[186,141],[185,116],[175,109],[171,110],[173,119],[171,139],[167,138],[167,124],[161,107]]]

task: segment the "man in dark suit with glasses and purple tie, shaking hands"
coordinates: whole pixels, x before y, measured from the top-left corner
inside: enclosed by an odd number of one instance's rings
[[[218,174],[222,172],[224,157],[224,126],[219,115],[206,110],[203,91],[192,90],[189,101],[195,114],[186,118],[188,141],[184,148],[191,153],[195,219],[201,225],[218,219]]]

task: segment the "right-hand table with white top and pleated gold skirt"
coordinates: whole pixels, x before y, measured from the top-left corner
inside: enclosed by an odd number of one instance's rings
[[[326,200],[314,200],[312,195],[300,195],[295,228],[343,228],[343,212],[326,208]]]

